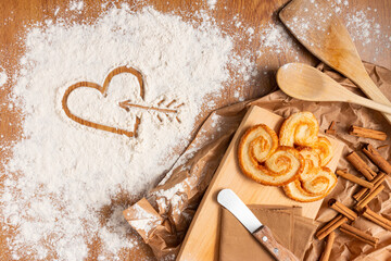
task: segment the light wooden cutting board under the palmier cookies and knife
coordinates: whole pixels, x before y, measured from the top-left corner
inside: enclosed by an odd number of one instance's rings
[[[244,176],[239,169],[237,148],[240,137],[247,128],[264,123],[278,132],[282,122],[283,117],[260,107],[252,107],[249,110],[200,203],[177,260],[218,260],[220,207],[216,198],[217,192],[223,188],[232,189],[248,204],[301,206],[304,216],[315,219],[323,200],[308,203],[297,202],[288,198],[281,188],[263,186],[253,182]],[[344,145],[333,138],[329,139],[333,148],[333,158],[328,166],[336,171]]]

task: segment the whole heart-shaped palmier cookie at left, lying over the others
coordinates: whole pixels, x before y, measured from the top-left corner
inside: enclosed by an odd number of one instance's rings
[[[240,140],[239,165],[257,183],[282,186],[295,179],[304,164],[299,151],[278,147],[277,134],[264,124],[251,127]]]

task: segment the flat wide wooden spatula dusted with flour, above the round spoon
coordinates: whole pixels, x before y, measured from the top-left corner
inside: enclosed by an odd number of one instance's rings
[[[391,105],[365,71],[346,27],[324,0],[293,0],[279,17],[315,57],[355,83],[370,99]],[[391,123],[391,115],[383,114]]]

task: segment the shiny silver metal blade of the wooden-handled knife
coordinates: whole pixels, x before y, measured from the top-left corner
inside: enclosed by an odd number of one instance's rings
[[[253,212],[232,190],[226,188],[219,191],[217,202],[229,210],[251,234],[263,226]]]

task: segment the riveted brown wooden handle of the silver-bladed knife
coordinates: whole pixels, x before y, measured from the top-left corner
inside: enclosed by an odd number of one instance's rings
[[[267,226],[261,226],[260,229],[253,233],[253,236],[272,253],[276,260],[300,261],[291,251],[277,243],[272,234],[272,231]]]

